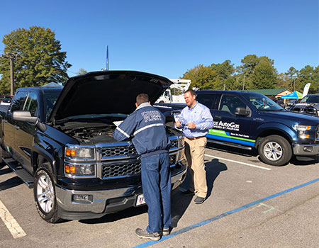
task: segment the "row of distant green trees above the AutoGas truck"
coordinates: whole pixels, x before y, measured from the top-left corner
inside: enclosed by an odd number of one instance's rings
[[[191,88],[199,89],[289,89],[303,92],[307,83],[311,83],[309,94],[319,93],[319,65],[306,65],[298,71],[290,67],[287,72],[278,74],[274,60],[267,56],[247,55],[242,64],[234,67],[230,60],[221,64],[204,66],[199,64],[187,70],[181,77],[191,79]]]

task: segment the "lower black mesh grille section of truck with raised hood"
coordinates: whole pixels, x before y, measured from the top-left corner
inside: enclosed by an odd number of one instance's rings
[[[176,157],[176,154],[169,155],[169,165],[175,164]],[[103,179],[138,175],[140,175],[140,160],[102,164]]]

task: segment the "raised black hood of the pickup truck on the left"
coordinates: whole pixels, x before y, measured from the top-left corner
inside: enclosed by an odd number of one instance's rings
[[[75,115],[125,113],[135,111],[136,96],[145,93],[153,104],[172,81],[145,72],[89,72],[71,77],[65,84],[49,122]]]

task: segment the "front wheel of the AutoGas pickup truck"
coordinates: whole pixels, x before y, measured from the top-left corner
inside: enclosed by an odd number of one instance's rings
[[[259,144],[258,153],[262,162],[277,167],[287,164],[292,156],[288,140],[279,135],[264,137]]]

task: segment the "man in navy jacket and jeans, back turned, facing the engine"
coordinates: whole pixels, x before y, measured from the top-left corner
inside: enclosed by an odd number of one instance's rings
[[[159,240],[161,235],[169,235],[172,225],[169,139],[165,117],[150,105],[147,94],[139,94],[135,106],[136,110],[118,125],[113,137],[121,141],[134,135],[133,145],[142,157],[142,188],[148,206],[148,226],[135,233],[142,239]]]

